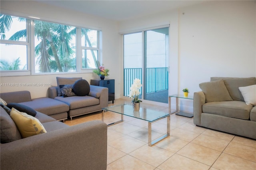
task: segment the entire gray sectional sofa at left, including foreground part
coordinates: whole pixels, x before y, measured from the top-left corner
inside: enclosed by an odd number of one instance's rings
[[[72,84],[78,79],[81,78],[60,78],[60,82]],[[25,111],[15,108],[21,112],[16,113],[19,119],[15,122],[14,114],[1,103],[0,168],[3,170],[106,170],[106,124],[95,120],[68,126],[57,121],[95,112],[108,106],[108,88],[90,85],[87,87],[89,90],[86,96],[60,96],[57,87],[49,88],[49,98],[31,99],[29,91],[1,93],[1,102],[4,100],[7,106],[18,108],[21,105],[20,109],[32,111],[35,115],[33,117],[28,112],[30,115],[23,114],[22,112]],[[28,137],[24,136],[27,130],[22,129],[27,128],[27,121],[30,122],[29,127],[32,128],[33,133]]]

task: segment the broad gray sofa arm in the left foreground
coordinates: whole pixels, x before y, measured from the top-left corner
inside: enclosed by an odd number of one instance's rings
[[[106,170],[107,126],[94,120],[1,144],[4,170]]]

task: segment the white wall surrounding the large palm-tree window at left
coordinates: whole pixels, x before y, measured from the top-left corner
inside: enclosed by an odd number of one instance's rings
[[[117,22],[106,20],[96,16],[89,16],[76,11],[69,11],[63,8],[48,6],[34,1],[1,1],[1,12],[14,12],[21,16],[34,16],[42,20],[70,24],[84,28],[102,30],[102,63],[110,69],[110,76],[115,79],[115,96],[120,97],[120,68],[117,63],[120,61],[120,35],[117,30]],[[51,83],[57,86],[56,77],[82,77],[90,83],[90,79],[99,78],[93,73],[80,74],[53,74],[34,76],[10,76],[0,77],[0,83]],[[1,92],[12,92],[29,90],[32,98],[48,96],[48,86],[1,86]]]

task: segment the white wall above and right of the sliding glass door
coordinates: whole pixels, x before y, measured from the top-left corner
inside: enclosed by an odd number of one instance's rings
[[[165,23],[170,23],[169,94],[189,88],[193,95],[200,91],[198,84],[213,76],[256,76],[255,1],[202,2],[120,22],[119,32]],[[180,100],[180,105],[193,111],[192,100]]]

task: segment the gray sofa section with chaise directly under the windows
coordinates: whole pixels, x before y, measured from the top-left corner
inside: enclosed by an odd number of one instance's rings
[[[58,84],[74,84],[82,78],[59,78]],[[29,91],[1,93],[0,97],[7,103],[20,103],[44,113],[56,120],[66,120],[74,116],[100,111],[108,106],[108,88],[88,84],[86,96],[60,96],[58,87],[48,88],[48,96],[31,99]]]

